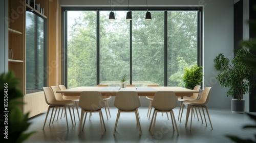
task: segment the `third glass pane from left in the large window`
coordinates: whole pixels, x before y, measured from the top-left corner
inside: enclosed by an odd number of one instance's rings
[[[152,20],[145,20],[146,12],[133,14],[133,84],[164,86],[164,12],[151,12]]]

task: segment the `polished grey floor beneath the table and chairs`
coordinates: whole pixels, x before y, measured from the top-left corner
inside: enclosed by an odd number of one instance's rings
[[[91,121],[86,120],[83,131],[78,135],[79,121],[76,114],[76,125],[72,127],[68,114],[69,131],[67,130],[66,118],[59,118],[49,126],[49,117],[45,129],[42,126],[45,121],[46,112],[30,118],[32,123],[28,131],[36,131],[25,142],[232,142],[225,135],[237,135],[241,138],[254,139],[255,129],[242,129],[244,125],[254,124],[246,114],[231,113],[230,109],[208,109],[213,130],[210,128],[209,121],[207,127],[201,120],[193,118],[192,129],[190,131],[190,120],[185,127],[185,114],[181,123],[178,120],[179,108],[174,109],[175,118],[179,130],[179,135],[173,131],[172,122],[167,120],[166,114],[158,114],[155,127],[155,134],[151,135],[148,131],[151,120],[146,117],[147,108],[139,108],[140,124],[142,135],[136,125],[134,113],[121,113],[117,125],[117,132],[113,135],[117,109],[111,108],[111,117],[106,119],[104,108],[102,108],[106,131],[101,135],[99,114],[93,113]],[[207,116],[206,116],[207,117]]]

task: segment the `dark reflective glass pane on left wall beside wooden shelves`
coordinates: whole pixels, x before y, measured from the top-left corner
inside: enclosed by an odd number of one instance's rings
[[[44,19],[26,12],[26,93],[46,86],[46,44]]]

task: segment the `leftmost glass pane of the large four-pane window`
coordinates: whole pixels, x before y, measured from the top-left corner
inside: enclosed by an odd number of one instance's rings
[[[96,11],[68,11],[68,88],[96,85]]]

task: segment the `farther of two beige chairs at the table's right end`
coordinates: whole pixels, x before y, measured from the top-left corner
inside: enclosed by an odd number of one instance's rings
[[[200,90],[200,85],[197,85],[197,86],[195,86],[194,87],[194,89],[193,90],[196,90],[196,91],[199,91]],[[178,97],[177,99],[178,99],[178,101],[180,101],[180,110],[179,110],[179,115],[178,115],[178,121],[180,120],[180,123],[181,123],[181,117],[182,117],[182,113],[183,113],[183,109],[184,109],[184,104],[183,104],[183,102],[184,101],[193,101],[193,100],[197,100],[197,98],[198,98],[198,95],[199,95],[199,93],[193,93],[193,96],[191,96],[191,97]],[[199,110],[200,111],[200,110]],[[180,112],[181,112],[181,115],[180,115]],[[196,113],[197,113],[197,110],[196,110]],[[201,114],[201,113],[200,113]],[[194,116],[195,116],[195,114],[194,114]],[[198,114],[197,114],[197,118],[198,118]],[[201,116],[201,118],[202,118],[202,116]]]

